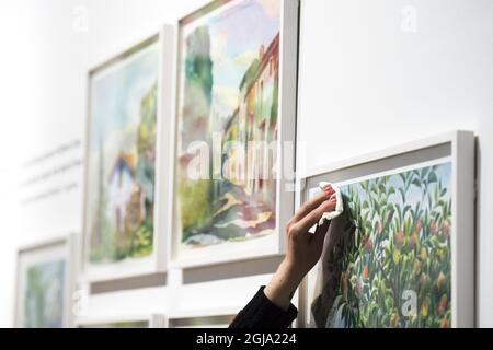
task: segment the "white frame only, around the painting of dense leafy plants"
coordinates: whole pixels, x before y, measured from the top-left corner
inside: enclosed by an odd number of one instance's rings
[[[372,175],[448,158],[451,164],[451,301],[449,301],[451,323],[449,326],[452,328],[474,327],[474,133],[471,131],[450,131],[312,168],[300,176],[297,207],[299,208],[308,198],[310,189],[316,188],[320,180],[337,183],[341,179],[354,178],[347,174],[351,172],[356,174],[365,167],[370,170],[366,175]],[[375,172],[375,170],[378,171]],[[310,324],[310,306],[313,295],[309,294],[314,288],[317,270],[318,266],[308,273],[300,287],[300,327],[308,327]]]

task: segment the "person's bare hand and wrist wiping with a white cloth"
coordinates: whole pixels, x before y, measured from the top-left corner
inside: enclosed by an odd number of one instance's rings
[[[318,224],[324,212],[335,209],[336,199],[333,195],[332,187],[323,188],[319,196],[307,201],[286,224],[286,257],[264,289],[265,296],[280,308],[289,307],[299,283],[322,255],[330,221],[317,226],[314,234],[308,230]]]

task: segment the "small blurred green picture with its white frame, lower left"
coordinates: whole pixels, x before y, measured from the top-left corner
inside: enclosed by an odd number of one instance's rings
[[[71,326],[76,242],[70,234],[19,249],[15,327]]]

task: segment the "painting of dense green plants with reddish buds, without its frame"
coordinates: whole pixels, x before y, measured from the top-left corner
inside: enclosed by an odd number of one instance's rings
[[[355,230],[310,272],[310,326],[450,327],[451,163],[341,190]]]

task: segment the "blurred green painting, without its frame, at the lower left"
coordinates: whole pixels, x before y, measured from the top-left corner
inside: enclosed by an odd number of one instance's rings
[[[24,328],[64,326],[65,261],[48,261],[27,268],[23,277]]]

